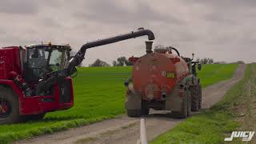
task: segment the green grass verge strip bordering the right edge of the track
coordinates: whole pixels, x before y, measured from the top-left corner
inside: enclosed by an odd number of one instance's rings
[[[230,133],[241,126],[241,122],[236,120],[239,117],[239,109],[234,107],[241,103],[244,87],[254,75],[254,70],[255,65],[248,65],[244,78],[231,87],[221,102],[212,106],[210,110],[186,119],[151,143],[224,143],[224,138],[230,137]]]

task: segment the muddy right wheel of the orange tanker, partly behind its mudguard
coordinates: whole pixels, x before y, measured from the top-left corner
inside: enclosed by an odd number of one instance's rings
[[[191,114],[191,98],[189,91],[184,90],[186,92],[185,98],[183,98],[182,101],[182,110],[181,111],[173,111],[172,113],[176,118],[186,118],[187,116],[190,116]]]

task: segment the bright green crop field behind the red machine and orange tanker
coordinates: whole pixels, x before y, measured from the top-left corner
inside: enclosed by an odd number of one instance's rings
[[[203,65],[198,76],[202,86],[229,79],[238,65]],[[131,67],[78,68],[74,78],[74,107],[46,114],[40,122],[0,126],[0,143],[49,134],[125,114],[125,87]]]

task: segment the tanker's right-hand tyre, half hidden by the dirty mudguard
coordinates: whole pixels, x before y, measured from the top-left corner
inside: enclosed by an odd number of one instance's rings
[[[172,112],[176,118],[186,118],[188,116],[188,112],[190,110],[188,108],[188,105],[189,105],[188,100],[189,100],[189,96],[188,96],[188,93],[186,92],[185,98],[183,98],[183,101],[182,101],[182,110]]]

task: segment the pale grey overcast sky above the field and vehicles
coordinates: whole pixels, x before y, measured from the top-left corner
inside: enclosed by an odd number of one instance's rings
[[[85,42],[145,27],[154,46],[174,46],[184,56],[255,62],[255,0],[1,0],[0,46]],[[146,37],[87,50],[84,65],[100,58],[145,54]]]

